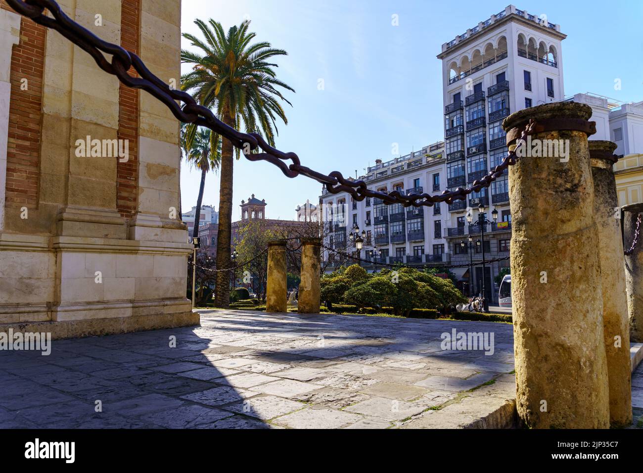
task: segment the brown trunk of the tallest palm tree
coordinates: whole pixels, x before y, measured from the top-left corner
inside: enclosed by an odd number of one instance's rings
[[[234,126],[232,117],[225,113],[224,123]],[[217,232],[217,270],[230,268],[230,245],[232,237],[232,177],[234,147],[223,138],[221,144],[221,185],[219,186],[219,231]],[[230,304],[230,274],[217,271],[214,306],[227,308]]]

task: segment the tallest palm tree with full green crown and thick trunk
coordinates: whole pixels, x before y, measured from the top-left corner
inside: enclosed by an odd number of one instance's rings
[[[288,102],[278,90],[294,89],[276,79],[268,60],[286,55],[284,50],[271,47],[269,42],[251,42],[255,33],[248,32],[249,21],[232,26],[226,34],[221,23],[210,19],[194,22],[204,40],[184,33],[199,53],[181,50],[181,62],[193,64],[192,71],[181,77],[181,88],[192,91],[196,100],[212,109],[219,120],[236,129],[243,122],[246,132],[260,133],[274,146],[278,134],[275,120],[287,124],[280,100]],[[188,140],[190,137],[188,136]],[[231,268],[230,240],[232,227],[232,177],[235,149],[229,140],[213,133],[214,143],[221,143],[221,187],[219,190],[219,232],[217,237],[217,268]],[[239,150],[236,151],[237,159]],[[215,306],[228,307],[230,278],[217,272]]]

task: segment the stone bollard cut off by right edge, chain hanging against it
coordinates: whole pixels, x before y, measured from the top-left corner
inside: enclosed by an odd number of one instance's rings
[[[635,238],[638,214],[643,213],[643,203],[622,207],[625,248],[629,250]],[[643,223],[641,224],[643,232]],[[625,257],[625,288],[628,294],[629,340],[643,343],[643,236]]]

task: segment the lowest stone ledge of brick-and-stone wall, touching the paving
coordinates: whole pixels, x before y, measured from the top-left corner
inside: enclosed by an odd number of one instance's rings
[[[189,327],[200,324],[199,313],[183,311],[178,313],[159,313],[132,317],[112,317],[110,319],[63,320],[60,322],[24,322],[0,324],[0,333],[13,329],[19,332],[51,333],[51,339],[72,339],[114,335],[143,330]]]

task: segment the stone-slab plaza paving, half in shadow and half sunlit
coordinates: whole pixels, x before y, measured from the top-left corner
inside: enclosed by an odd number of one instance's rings
[[[493,334],[493,354],[443,349],[454,329]],[[0,352],[0,428],[493,427],[513,369],[510,324],[201,311],[199,327]],[[633,380],[638,420],[641,367]]]

